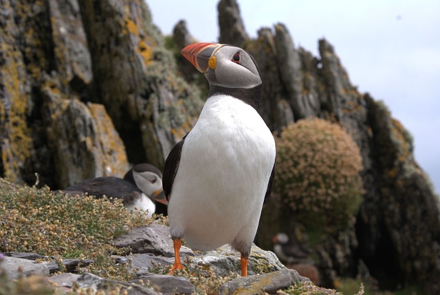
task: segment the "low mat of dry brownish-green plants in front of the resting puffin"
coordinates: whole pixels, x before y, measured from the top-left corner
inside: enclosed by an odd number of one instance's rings
[[[142,212],[127,212],[120,200],[68,197],[0,178],[0,252],[91,259],[95,262],[83,270],[126,280],[128,270],[115,265],[111,255],[125,255],[129,249],[115,248],[113,237],[151,222]]]

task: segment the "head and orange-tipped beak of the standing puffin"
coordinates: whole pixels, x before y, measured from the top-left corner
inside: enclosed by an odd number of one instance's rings
[[[254,88],[261,86],[259,68],[245,50],[226,44],[195,43],[181,50],[197,70],[205,73],[210,87]]]

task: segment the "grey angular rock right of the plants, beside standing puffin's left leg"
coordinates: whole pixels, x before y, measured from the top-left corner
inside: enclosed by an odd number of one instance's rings
[[[163,224],[152,223],[142,228],[133,228],[129,233],[113,239],[113,244],[120,248],[130,247],[133,253],[174,256],[170,228]],[[185,246],[182,246],[180,251],[182,256],[194,256],[194,252]]]

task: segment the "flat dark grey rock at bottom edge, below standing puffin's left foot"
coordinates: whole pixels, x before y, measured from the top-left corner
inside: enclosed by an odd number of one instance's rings
[[[195,287],[187,278],[166,274],[144,274],[130,283],[146,283],[161,294],[194,294]]]

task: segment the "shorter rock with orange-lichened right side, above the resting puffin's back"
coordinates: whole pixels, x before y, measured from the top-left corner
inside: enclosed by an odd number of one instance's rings
[[[88,178],[124,175],[128,169],[124,143],[104,107],[76,99],[52,102],[47,133],[61,187]]]

